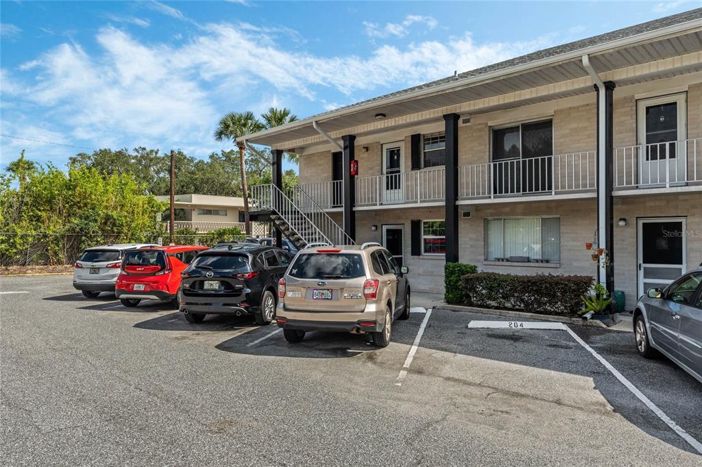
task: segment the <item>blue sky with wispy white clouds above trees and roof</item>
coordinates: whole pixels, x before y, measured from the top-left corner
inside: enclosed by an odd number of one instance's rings
[[[3,135],[204,157],[227,111],[298,116],[702,6],[663,2],[0,3]],[[77,149],[0,137],[64,165]]]

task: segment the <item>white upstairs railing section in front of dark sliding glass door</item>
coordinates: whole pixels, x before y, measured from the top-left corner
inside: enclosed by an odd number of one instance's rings
[[[559,194],[597,188],[595,151],[462,165],[459,198]]]

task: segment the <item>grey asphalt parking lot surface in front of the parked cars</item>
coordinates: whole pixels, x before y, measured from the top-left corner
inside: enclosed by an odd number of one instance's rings
[[[702,463],[564,331],[416,309],[388,348],[318,332],[294,345],[242,318],[85,299],[70,276],[0,292],[4,465]],[[629,333],[572,329],[702,440],[702,384],[639,358]]]

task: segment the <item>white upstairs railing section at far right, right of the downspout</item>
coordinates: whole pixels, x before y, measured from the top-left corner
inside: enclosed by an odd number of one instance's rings
[[[614,187],[670,187],[702,182],[702,138],[614,149]]]

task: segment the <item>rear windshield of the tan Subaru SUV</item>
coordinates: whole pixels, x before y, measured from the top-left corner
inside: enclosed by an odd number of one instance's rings
[[[366,275],[361,255],[355,253],[312,253],[299,255],[290,268],[298,279],[350,279]]]

